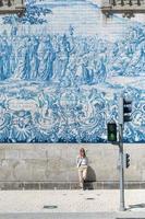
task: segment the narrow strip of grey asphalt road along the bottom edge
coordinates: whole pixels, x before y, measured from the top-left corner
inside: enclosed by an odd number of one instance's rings
[[[145,212],[0,214],[0,219],[145,219]]]

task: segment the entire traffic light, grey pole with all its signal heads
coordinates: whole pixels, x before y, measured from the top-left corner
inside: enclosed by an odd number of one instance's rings
[[[124,203],[124,154],[123,154],[123,129],[124,123],[131,122],[132,113],[132,101],[124,97],[123,93],[120,93],[119,103],[119,141],[117,141],[117,124],[116,122],[110,122],[107,124],[108,130],[108,141],[116,142],[119,146],[119,184],[120,184],[120,210],[125,210]],[[126,154],[125,154],[126,155]],[[130,154],[125,157],[126,168],[130,165],[129,160]]]

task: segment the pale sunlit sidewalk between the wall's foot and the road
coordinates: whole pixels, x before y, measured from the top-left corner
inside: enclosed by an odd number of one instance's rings
[[[0,214],[118,212],[119,200],[120,192],[117,189],[0,191]],[[145,189],[125,191],[125,212],[142,211],[145,217]]]

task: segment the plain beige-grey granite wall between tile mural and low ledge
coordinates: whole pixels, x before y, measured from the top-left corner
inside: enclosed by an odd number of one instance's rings
[[[116,185],[119,182],[118,146],[112,145],[5,145],[0,148],[0,186],[77,184],[76,157],[84,147],[89,161],[87,181]],[[144,145],[125,145],[131,165],[125,184],[145,183]]]

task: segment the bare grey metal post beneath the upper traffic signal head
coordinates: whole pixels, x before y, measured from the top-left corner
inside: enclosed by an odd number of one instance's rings
[[[124,165],[123,165],[123,125],[119,124],[119,172],[120,172],[120,210],[125,210],[124,204]]]

